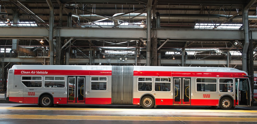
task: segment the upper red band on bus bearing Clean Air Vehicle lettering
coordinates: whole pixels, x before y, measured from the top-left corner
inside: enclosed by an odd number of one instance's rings
[[[112,75],[111,70],[14,70],[14,75]]]

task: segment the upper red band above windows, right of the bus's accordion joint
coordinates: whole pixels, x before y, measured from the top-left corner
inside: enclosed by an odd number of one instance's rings
[[[134,71],[134,76],[168,76],[168,77],[240,77],[245,73],[232,72],[169,72],[169,71]],[[245,77],[246,78],[246,77]]]

